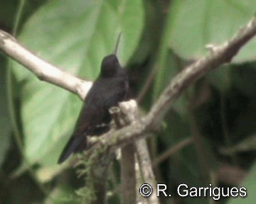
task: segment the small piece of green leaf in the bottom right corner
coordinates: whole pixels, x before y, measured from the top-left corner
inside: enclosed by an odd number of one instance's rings
[[[256,163],[254,166],[252,166],[252,169],[250,170],[249,176],[245,179],[245,182],[242,183],[241,187],[246,188],[246,197],[237,197],[237,198],[231,198],[228,202],[228,204],[251,204],[255,203],[256,200]]]

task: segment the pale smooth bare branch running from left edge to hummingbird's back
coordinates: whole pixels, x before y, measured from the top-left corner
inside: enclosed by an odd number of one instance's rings
[[[92,82],[78,79],[78,77],[64,72],[28,51],[9,33],[0,30],[0,48],[16,62],[33,72],[38,79],[48,81],[63,89],[73,92],[84,99]]]

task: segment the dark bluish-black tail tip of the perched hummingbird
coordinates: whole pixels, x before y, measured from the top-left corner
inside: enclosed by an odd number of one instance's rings
[[[65,162],[70,154],[73,152],[81,152],[82,149],[86,147],[86,136],[85,135],[73,135],[70,138],[67,145],[63,149],[63,152],[60,154],[60,158],[58,159],[58,164]]]

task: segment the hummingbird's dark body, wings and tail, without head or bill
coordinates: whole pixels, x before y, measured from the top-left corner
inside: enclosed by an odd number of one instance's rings
[[[58,164],[64,162],[73,152],[80,152],[86,147],[87,135],[100,135],[109,127],[97,128],[102,123],[109,123],[109,108],[123,101],[128,92],[128,81],[124,77],[111,80],[98,80],[92,85],[85,98],[75,131],[60,154]]]

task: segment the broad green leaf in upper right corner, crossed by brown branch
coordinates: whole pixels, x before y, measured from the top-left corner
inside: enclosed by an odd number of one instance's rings
[[[208,44],[229,40],[253,17],[254,0],[175,0],[171,4],[169,45],[181,57],[197,60],[207,54]],[[251,40],[235,62],[255,60],[256,40]]]

